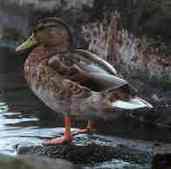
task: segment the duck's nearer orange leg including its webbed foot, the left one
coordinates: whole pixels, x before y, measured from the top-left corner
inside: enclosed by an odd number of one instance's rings
[[[60,138],[54,138],[45,142],[45,144],[65,144],[72,142],[71,134],[71,117],[65,116],[65,131],[64,136]]]

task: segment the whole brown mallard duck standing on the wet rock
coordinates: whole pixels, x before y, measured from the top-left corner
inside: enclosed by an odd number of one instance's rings
[[[80,130],[87,132],[94,130],[94,118],[110,118],[117,113],[115,109],[152,108],[117,76],[111,64],[87,50],[74,49],[70,29],[58,18],[39,20],[16,51],[27,48],[32,48],[24,65],[28,85],[47,106],[65,117],[64,136],[48,144],[72,142],[71,117],[87,119],[87,128]]]

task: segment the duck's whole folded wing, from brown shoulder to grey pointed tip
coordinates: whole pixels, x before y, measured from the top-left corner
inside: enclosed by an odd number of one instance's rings
[[[53,56],[49,60],[49,65],[64,78],[90,90],[104,91],[128,84],[126,80],[116,76],[116,70],[111,64],[86,50],[74,50],[64,60],[61,61],[59,57]],[[67,66],[67,62],[70,62],[71,66]]]

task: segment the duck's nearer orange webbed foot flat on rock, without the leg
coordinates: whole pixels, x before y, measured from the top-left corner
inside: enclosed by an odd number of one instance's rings
[[[44,144],[51,144],[51,145],[57,145],[57,144],[69,144],[72,142],[72,137],[58,137],[54,139],[50,139],[44,142]]]

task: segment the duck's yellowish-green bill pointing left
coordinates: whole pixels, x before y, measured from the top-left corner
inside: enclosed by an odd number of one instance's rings
[[[32,34],[25,42],[16,48],[16,52],[20,52],[29,48],[32,48],[37,44],[34,35]]]

